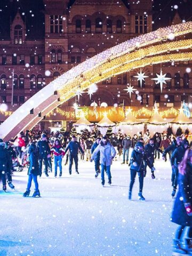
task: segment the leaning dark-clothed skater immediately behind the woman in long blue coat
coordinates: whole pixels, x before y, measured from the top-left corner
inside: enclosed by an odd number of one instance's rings
[[[171,154],[171,166],[172,166],[172,170],[174,170],[173,191],[171,194],[172,197],[175,196],[177,185],[178,185],[178,175],[179,175],[178,165],[179,163],[181,163],[188,147],[189,147],[189,141],[187,139],[184,139],[181,142],[181,145],[175,148],[175,150]]]

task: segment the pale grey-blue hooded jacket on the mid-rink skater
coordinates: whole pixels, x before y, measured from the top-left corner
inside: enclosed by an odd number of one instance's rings
[[[109,166],[112,164],[112,157],[114,158],[116,155],[115,148],[111,145],[111,143],[108,141],[106,145],[103,145],[103,143],[100,143],[97,148],[93,151],[93,154],[91,156],[91,159],[93,160],[95,156],[100,151],[100,164]]]

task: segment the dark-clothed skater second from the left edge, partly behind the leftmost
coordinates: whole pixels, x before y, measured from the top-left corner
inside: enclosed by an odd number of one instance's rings
[[[15,151],[12,147],[10,147],[10,143],[7,141],[5,142],[5,149],[7,150],[9,154],[9,159],[7,161],[7,167],[6,167],[6,174],[7,174],[7,183],[10,188],[14,189],[14,185],[12,183],[12,167],[13,167],[13,161],[12,158],[16,157]]]

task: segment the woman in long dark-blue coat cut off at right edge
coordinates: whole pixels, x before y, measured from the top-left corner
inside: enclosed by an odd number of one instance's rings
[[[192,253],[192,150],[187,149],[178,166],[179,191],[174,202],[171,221],[178,224],[173,239],[173,251],[181,254]],[[182,199],[181,199],[182,198]],[[188,227],[188,237],[183,239]]]

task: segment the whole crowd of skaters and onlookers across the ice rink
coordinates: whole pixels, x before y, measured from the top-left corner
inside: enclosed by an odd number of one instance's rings
[[[40,196],[38,180],[44,172],[49,177],[54,163],[54,177],[62,176],[62,160],[65,156],[65,165],[69,162],[69,175],[72,173],[73,162],[75,172],[78,170],[78,154],[81,161],[94,161],[94,177],[98,178],[101,173],[101,185],[105,186],[105,175],[108,184],[111,185],[110,166],[113,161],[122,161],[130,167],[130,186],[128,198],[132,199],[132,189],[135,178],[139,178],[139,199],[145,201],[142,194],[143,181],[147,173],[147,166],[151,170],[151,178],[155,179],[155,159],[162,159],[166,162],[169,155],[172,175],[171,185],[174,197],[178,188],[179,192],[175,199],[172,221],[177,223],[179,229],[174,239],[174,250],[178,252],[192,251],[192,142],[189,141],[188,134],[181,134],[176,138],[166,132],[156,132],[153,136],[149,131],[134,134],[123,134],[121,130],[117,134],[108,129],[106,135],[102,135],[94,127],[90,133],[84,130],[81,134],[76,132],[75,127],[70,132],[48,133],[47,131],[26,131],[18,134],[15,140],[3,142],[0,139],[0,174],[3,183],[3,190],[6,191],[6,183],[14,189],[12,183],[13,163],[17,159],[18,169],[23,170],[23,166],[28,167],[28,183],[23,197],[30,195],[31,182],[34,181],[35,192],[33,197]],[[131,157],[129,157],[131,155]],[[121,159],[122,158],[122,159]],[[44,166],[44,167],[43,167]],[[105,174],[106,173],[106,174]],[[7,181],[6,181],[7,180]],[[183,245],[182,235],[186,227],[189,228],[188,238]]]

